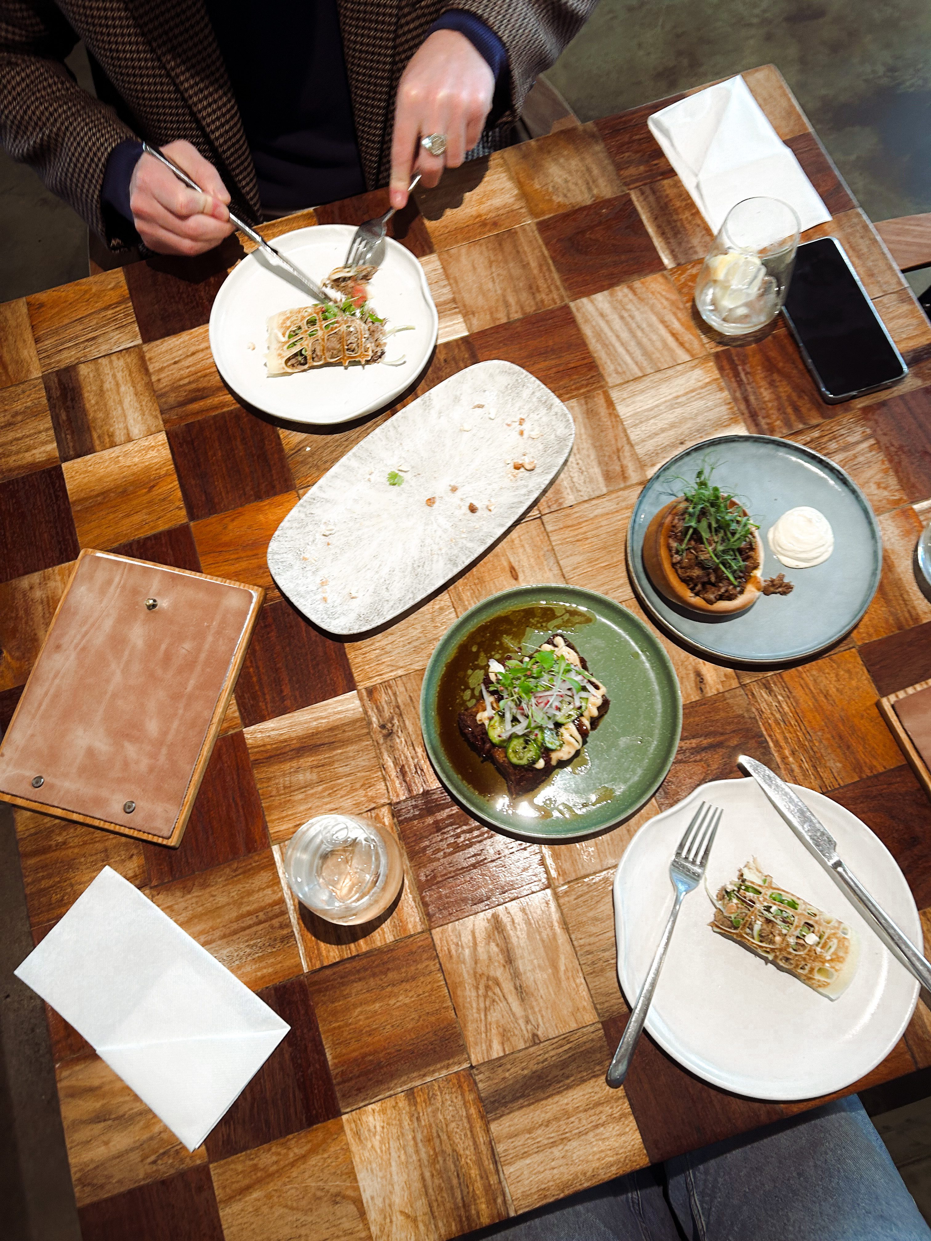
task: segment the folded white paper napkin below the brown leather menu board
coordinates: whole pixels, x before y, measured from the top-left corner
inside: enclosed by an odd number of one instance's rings
[[[189,1150],[290,1029],[109,866],[15,973]]]

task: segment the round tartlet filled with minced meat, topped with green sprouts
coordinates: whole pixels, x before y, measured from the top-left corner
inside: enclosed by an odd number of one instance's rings
[[[647,526],[643,566],[660,594],[693,612],[741,612],[763,588],[763,545],[750,514],[704,468]]]

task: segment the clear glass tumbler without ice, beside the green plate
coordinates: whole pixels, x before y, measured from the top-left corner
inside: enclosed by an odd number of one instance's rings
[[[401,850],[389,831],[355,814],[320,814],[298,828],[284,854],[288,886],[328,922],[379,917],[401,890]]]

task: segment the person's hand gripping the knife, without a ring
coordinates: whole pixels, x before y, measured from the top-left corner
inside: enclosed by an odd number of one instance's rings
[[[179,139],[161,150],[205,192],[189,190],[153,155],[140,155],[129,181],[137,232],[156,254],[202,254],[233,231],[226,210],[230,195],[214,165],[190,143]]]

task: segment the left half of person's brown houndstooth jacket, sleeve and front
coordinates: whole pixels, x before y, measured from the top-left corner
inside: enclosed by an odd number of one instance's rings
[[[124,101],[124,119],[62,63],[83,38]],[[113,148],[185,138],[216,165],[238,210],[259,218],[256,172],[226,68],[200,0],[0,0],[0,138],[106,237],[130,238],[101,210]],[[132,238],[134,240],[134,238]]]

